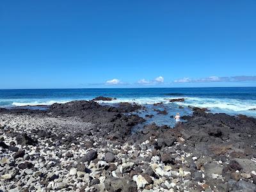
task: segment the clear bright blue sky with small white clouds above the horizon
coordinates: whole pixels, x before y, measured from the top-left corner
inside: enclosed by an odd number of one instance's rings
[[[1,1],[0,88],[256,86],[256,1]]]

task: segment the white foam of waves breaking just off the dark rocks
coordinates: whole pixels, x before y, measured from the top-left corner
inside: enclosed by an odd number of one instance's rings
[[[138,98],[118,98],[110,101],[98,101],[99,103],[116,104],[119,102],[129,102],[137,104],[155,104],[163,102],[163,104],[171,104],[170,99],[177,99],[179,97],[138,97]],[[198,108],[208,108],[216,113],[246,113],[254,114],[255,111],[249,111],[249,109],[256,108],[256,100],[238,100],[238,99],[214,99],[214,98],[202,98],[202,97],[184,97],[185,102],[175,102],[180,106],[195,106]],[[80,98],[81,99],[81,98]],[[86,99],[86,98],[84,98]],[[73,100],[73,99],[72,99]],[[88,100],[88,99],[86,99]],[[71,100],[15,100],[12,102],[12,106],[37,106],[37,105],[51,105],[54,103],[65,103]],[[242,114],[246,114],[242,113]],[[256,114],[255,114],[256,115]]]

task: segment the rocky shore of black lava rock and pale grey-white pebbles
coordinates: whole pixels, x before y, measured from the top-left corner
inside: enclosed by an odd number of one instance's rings
[[[0,191],[256,191],[255,118],[196,108],[132,134],[142,108],[0,109]]]

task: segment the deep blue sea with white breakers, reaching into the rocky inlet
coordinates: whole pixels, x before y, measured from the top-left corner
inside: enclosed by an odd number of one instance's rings
[[[170,116],[179,112],[191,114],[188,106],[208,108],[212,113],[256,116],[256,87],[250,88],[108,88],[108,89],[38,89],[0,90],[0,107],[49,105],[71,100],[90,100],[97,96],[115,97],[105,102],[136,102],[147,107],[147,114],[155,115],[148,122],[173,125]],[[170,103],[168,99],[185,98],[185,102]],[[164,106],[153,106],[163,102]],[[179,106],[184,107],[180,109]],[[166,109],[168,115],[156,115],[154,109]],[[145,112],[140,113],[141,116]]]

